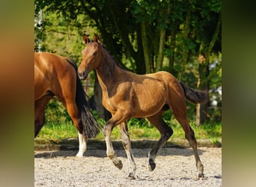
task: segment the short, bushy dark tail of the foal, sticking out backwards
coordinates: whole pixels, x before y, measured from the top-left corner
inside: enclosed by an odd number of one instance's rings
[[[183,82],[180,82],[180,85],[183,88],[186,99],[193,103],[205,103],[207,102],[207,93],[205,91],[198,91],[194,88],[190,88]]]

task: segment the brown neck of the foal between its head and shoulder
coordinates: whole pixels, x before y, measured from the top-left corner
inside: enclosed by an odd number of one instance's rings
[[[114,59],[109,55],[106,49],[101,47],[102,58],[100,58],[100,65],[96,68],[97,78],[102,88],[108,88],[112,84],[121,68],[115,64]]]

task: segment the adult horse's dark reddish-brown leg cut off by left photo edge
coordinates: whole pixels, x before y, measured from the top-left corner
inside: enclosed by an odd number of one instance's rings
[[[52,96],[43,96],[34,101],[34,138],[37,137],[44,123],[44,109]]]

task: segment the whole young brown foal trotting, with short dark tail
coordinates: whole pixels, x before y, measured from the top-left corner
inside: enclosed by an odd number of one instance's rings
[[[103,91],[103,106],[112,113],[112,118],[104,126],[103,133],[106,140],[106,154],[114,165],[119,169],[123,167],[121,160],[115,156],[111,141],[112,129],[118,126],[130,166],[128,179],[135,179],[136,165],[132,155],[127,120],[131,117],[146,117],[161,134],[161,138],[148,154],[149,170],[153,171],[156,168],[156,153],[173,133],[173,130],[162,120],[163,111],[171,108],[194,151],[198,177],[204,177],[204,166],[198,156],[195,134],[186,116],[186,99],[191,102],[205,102],[205,93],[189,88],[164,71],[137,75],[122,70],[103,48],[97,34],[94,35],[94,41],[91,43],[85,35],[84,40],[87,45],[82,50],[79,78],[86,79],[91,70],[95,69],[97,72]]]

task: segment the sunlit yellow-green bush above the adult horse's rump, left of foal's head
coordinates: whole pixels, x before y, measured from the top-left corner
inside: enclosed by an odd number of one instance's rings
[[[76,19],[72,19],[61,10],[49,10],[51,8],[46,6],[35,17],[37,24],[34,31],[34,50],[68,56],[79,65],[81,52],[85,47],[82,34],[94,33],[97,29],[88,22],[88,16],[84,14],[77,14]]]

